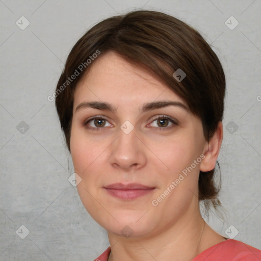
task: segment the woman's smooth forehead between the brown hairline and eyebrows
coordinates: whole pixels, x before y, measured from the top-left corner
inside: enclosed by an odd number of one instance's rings
[[[113,51],[95,60],[87,74],[77,83],[74,108],[86,100],[136,106],[154,100],[175,100],[185,103],[159,77],[145,66],[128,63]]]

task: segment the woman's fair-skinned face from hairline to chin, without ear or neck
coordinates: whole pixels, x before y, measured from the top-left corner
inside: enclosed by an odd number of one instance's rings
[[[144,237],[186,225],[198,212],[206,146],[186,102],[112,51],[77,84],[70,138],[77,190],[110,232]]]

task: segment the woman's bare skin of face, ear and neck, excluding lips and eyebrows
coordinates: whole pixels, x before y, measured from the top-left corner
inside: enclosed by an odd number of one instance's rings
[[[115,111],[76,110],[89,101],[108,102]],[[178,101],[187,106],[145,66],[129,64],[113,51],[96,59],[75,89],[70,148],[74,171],[81,177],[77,190],[88,213],[108,231],[109,260],[167,260],[173,256],[191,260],[224,240],[204,222],[198,202],[199,171],[215,167],[222,123],[207,142],[200,119],[189,110],[167,106],[141,111],[145,103],[153,101]],[[93,116],[106,121],[91,120]],[[134,126],[129,134],[120,128],[126,120]],[[152,200],[201,154],[204,159],[153,206]],[[115,182],[138,182],[155,189],[137,199],[123,200],[103,188]],[[131,237],[121,233],[124,227],[132,232]]]

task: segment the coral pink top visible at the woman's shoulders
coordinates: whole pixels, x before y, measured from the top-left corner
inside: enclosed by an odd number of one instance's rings
[[[108,247],[94,261],[108,261],[111,252],[111,247]],[[214,245],[196,257],[191,261],[260,261],[261,250],[251,247],[241,241],[227,239]]]

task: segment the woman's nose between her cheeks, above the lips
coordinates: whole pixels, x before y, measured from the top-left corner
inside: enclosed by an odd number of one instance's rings
[[[136,136],[136,129],[129,134],[119,129],[119,137],[110,146],[110,164],[124,171],[140,169],[147,163],[144,144]]]

